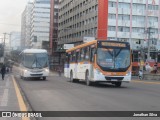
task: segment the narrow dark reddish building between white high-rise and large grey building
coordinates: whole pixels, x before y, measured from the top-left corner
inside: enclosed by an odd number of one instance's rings
[[[62,69],[64,66],[64,60],[62,59],[62,53],[58,42],[58,13],[59,13],[59,0],[51,0],[51,12],[50,12],[50,68],[53,70]]]

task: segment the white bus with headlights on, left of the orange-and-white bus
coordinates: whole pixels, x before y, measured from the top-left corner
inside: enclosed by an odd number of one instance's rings
[[[45,49],[25,49],[20,53],[20,76],[46,80],[49,75],[48,54]]]

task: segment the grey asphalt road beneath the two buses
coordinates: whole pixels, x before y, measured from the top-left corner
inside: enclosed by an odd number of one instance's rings
[[[116,88],[110,84],[86,86],[83,82],[50,76],[44,80],[22,80],[14,70],[16,81],[34,111],[158,111],[160,82],[132,81]],[[44,119],[44,118],[41,118]],[[52,120],[53,118],[46,118]],[[44,120],[46,120],[44,119]],[[54,118],[54,120],[75,118]],[[76,120],[86,120],[76,118]],[[87,120],[99,118],[87,118]],[[103,118],[104,120],[134,120],[137,118]],[[144,118],[139,118],[144,120]],[[145,118],[158,120],[159,118]]]

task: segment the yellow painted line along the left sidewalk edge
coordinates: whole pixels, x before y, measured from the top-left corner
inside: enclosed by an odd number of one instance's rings
[[[16,80],[14,79],[13,75],[12,75],[12,80],[13,80],[13,83],[14,83],[14,88],[15,88],[15,91],[16,91],[16,95],[17,95],[20,110],[21,111],[27,111],[27,107],[25,105],[25,102],[23,100],[23,97],[21,95],[21,92],[18,88],[18,85],[17,85]],[[28,117],[22,117],[22,120],[30,120],[30,119]]]

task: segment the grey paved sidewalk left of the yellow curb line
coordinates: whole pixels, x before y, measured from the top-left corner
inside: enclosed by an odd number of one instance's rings
[[[0,74],[0,116],[3,111],[20,111],[19,103],[10,74],[6,74],[4,80]],[[0,118],[0,120],[7,120],[9,118]],[[20,118],[10,118],[12,120],[20,120]]]

